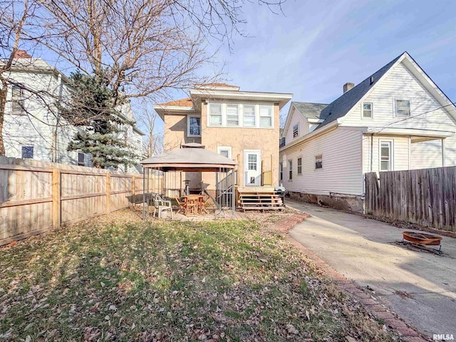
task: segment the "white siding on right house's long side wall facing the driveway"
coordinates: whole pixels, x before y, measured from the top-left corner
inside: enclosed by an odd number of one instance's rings
[[[363,193],[363,170],[361,167],[362,133],[360,130],[337,128],[309,141],[284,148],[279,159],[302,157],[302,173],[292,182],[283,180],[286,190],[314,195],[329,195],[329,192],[361,195]],[[315,170],[315,156],[323,155],[322,169]],[[289,172],[287,165],[284,172]]]

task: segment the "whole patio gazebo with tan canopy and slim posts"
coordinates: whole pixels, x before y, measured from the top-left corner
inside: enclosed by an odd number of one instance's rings
[[[167,184],[174,182],[174,187],[171,190],[177,192],[180,197],[182,195],[182,182],[184,182],[182,172],[214,172],[214,196],[207,192],[203,186],[201,186],[201,191],[211,197],[219,212],[224,209],[231,209],[234,216],[234,185],[236,183],[234,167],[237,163],[233,160],[206,150],[204,145],[197,142],[190,142],[177,150],[150,157],[140,163],[142,164],[142,212],[144,217],[148,210],[150,185],[152,185],[152,192],[163,197],[171,197],[167,196],[170,193],[165,192],[170,192]],[[172,177],[169,177],[170,173],[172,173]]]

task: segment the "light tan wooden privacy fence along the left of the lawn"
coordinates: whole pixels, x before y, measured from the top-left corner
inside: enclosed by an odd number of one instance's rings
[[[0,245],[136,202],[139,174],[0,157]]]

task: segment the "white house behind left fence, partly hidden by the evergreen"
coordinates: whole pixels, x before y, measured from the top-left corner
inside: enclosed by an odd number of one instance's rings
[[[69,78],[43,59],[32,58],[21,50],[17,51],[7,78],[9,90],[3,128],[6,157],[92,166],[90,155],[67,151],[78,128],[59,118],[55,103],[69,95]],[[124,118],[134,120],[130,103],[122,105],[120,112]],[[135,125],[124,129],[120,134],[141,155],[145,134]],[[128,172],[138,172],[138,167],[128,169]]]

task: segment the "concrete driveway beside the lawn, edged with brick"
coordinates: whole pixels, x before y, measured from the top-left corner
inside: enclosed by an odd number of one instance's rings
[[[456,338],[456,239],[443,237],[442,256],[399,244],[402,231],[373,219],[286,201],[312,216],[291,237],[375,296],[432,339]]]

